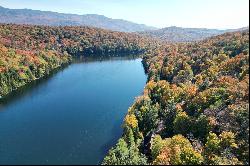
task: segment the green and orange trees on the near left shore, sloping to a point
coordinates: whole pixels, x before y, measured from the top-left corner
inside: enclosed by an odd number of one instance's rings
[[[70,61],[67,53],[12,49],[0,43],[0,98]]]

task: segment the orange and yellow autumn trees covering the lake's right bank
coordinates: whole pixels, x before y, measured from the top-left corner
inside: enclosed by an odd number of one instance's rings
[[[103,164],[249,164],[249,30],[151,50]]]

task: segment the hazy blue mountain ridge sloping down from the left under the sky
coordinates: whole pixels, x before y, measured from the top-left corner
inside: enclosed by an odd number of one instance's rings
[[[49,26],[91,26],[122,32],[156,30],[154,27],[149,27],[143,24],[136,24],[121,19],[111,19],[96,14],[63,14],[31,9],[8,9],[1,6],[0,23]]]

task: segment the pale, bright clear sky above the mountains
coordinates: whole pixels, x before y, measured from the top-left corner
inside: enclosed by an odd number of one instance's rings
[[[249,26],[249,0],[0,0],[0,6],[100,14],[157,28],[234,29]]]

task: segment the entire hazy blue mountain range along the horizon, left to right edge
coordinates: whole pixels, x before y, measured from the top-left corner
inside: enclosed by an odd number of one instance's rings
[[[249,29],[208,29],[170,26],[157,29],[124,19],[112,19],[99,14],[71,14],[33,9],[9,9],[0,6],[0,23],[45,25],[45,26],[89,26],[120,32],[133,32],[165,42],[192,42],[221,35],[226,32]]]

